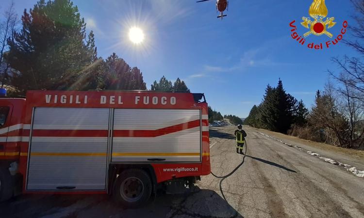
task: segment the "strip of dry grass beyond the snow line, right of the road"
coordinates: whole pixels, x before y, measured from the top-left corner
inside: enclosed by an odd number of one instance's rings
[[[255,128],[257,129],[257,128]],[[315,141],[310,141],[310,140],[303,140],[303,139],[299,139],[297,137],[294,136],[288,136],[288,135],[284,135],[281,133],[277,133],[277,132],[271,132],[269,130],[265,130],[265,129],[257,129],[260,132],[263,132],[267,135],[273,136],[277,139],[281,139],[281,140],[291,140],[294,141],[296,143],[300,143],[300,144],[306,144],[312,147],[316,147],[325,151],[331,151],[331,152],[336,152],[336,153],[340,153],[340,154],[346,154],[346,155],[350,155],[353,157],[358,157],[360,159],[364,158],[364,151],[359,151],[359,150],[353,150],[353,149],[347,149],[347,148],[340,148],[340,147],[336,147],[333,145],[329,145],[329,144],[324,144],[324,143],[320,143],[320,142],[315,142]]]

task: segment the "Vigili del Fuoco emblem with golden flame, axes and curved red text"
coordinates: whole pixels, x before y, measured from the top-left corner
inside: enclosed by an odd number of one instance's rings
[[[347,32],[347,21],[345,20],[343,22],[340,33],[335,38],[333,38],[332,33],[329,32],[328,29],[335,26],[336,22],[334,22],[334,17],[327,17],[329,11],[326,7],[325,0],[314,0],[314,2],[312,2],[310,6],[308,13],[313,18],[313,20],[311,20],[310,17],[302,17],[303,22],[301,22],[301,25],[306,29],[309,29],[309,31],[304,33],[303,36],[300,36],[297,33],[297,26],[295,26],[296,20],[293,20],[289,24],[292,32],[291,36],[299,44],[301,44],[302,46],[307,45],[307,47],[311,49],[323,49],[324,47],[329,48],[331,46],[337,45],[339,41],[343,39],[343,35],[345,35],[345,33]],[[320,44],[306,43],[306,38],[310,35],[326,35],[327,37],[331,38],[331,40],[325,41],[325,43]]]

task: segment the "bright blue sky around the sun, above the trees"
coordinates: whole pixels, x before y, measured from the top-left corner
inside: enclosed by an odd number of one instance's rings
[[[3,0],[4,1],[4,0]],[[2,1],[2,2],[3,2]],[[5,0],[3,7],[11,0]],[[35,0],[14,0],[17,13],[32,8]],[[312,0],[230,0],[228,16],[216,19],[215,2],[194,0],[74,0],[87,30],[93,30],[99,56],[113,52],[141,69],[150,89],[163,75],[182,78],[190,90],[205,93],[209,105],[222,114],[248,116],[259,104],[266,85],[284,88],[308,108],[314,93],[338,71],[331,57],[356,55],[343,43],[324,50],[300,46],[290,36],[289,23],[296,20],[298,34],[307,31],[299,23],[308,17]],[[336,37],[344,20],[356,25],[349,0],[326,0],[328,17]],[[3,8],[1,8],[3,10]],[[128,40],[130,27],[145,34],[142,45]],[[350,38],[350,32],[344,38]],[[306,43],[325,43],[325,35],[311,35]]]

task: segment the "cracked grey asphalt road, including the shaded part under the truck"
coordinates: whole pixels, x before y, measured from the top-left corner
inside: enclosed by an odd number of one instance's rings
[[[229,173],[243,160],[236,154],[234,128],[210,128],[211,164],[216,175]],[[23,195],[1,203],[0,217],[364,217],[364,178],[262,136],[255,129],[245,130],[248,156],[222,182],[227,201],[220,193],[220,179],[208,175],[198,182],[195,193],[159,194],[139,209],[122,209],[101,195]]]

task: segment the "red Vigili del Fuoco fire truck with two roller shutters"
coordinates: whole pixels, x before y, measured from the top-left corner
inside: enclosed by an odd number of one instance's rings
[[[199,93],[29,91],[26,99],[0,98],[0,200],[19,190],[108,193],[136,206],[159,187],[193,187],[210,173],[208,126]]]

